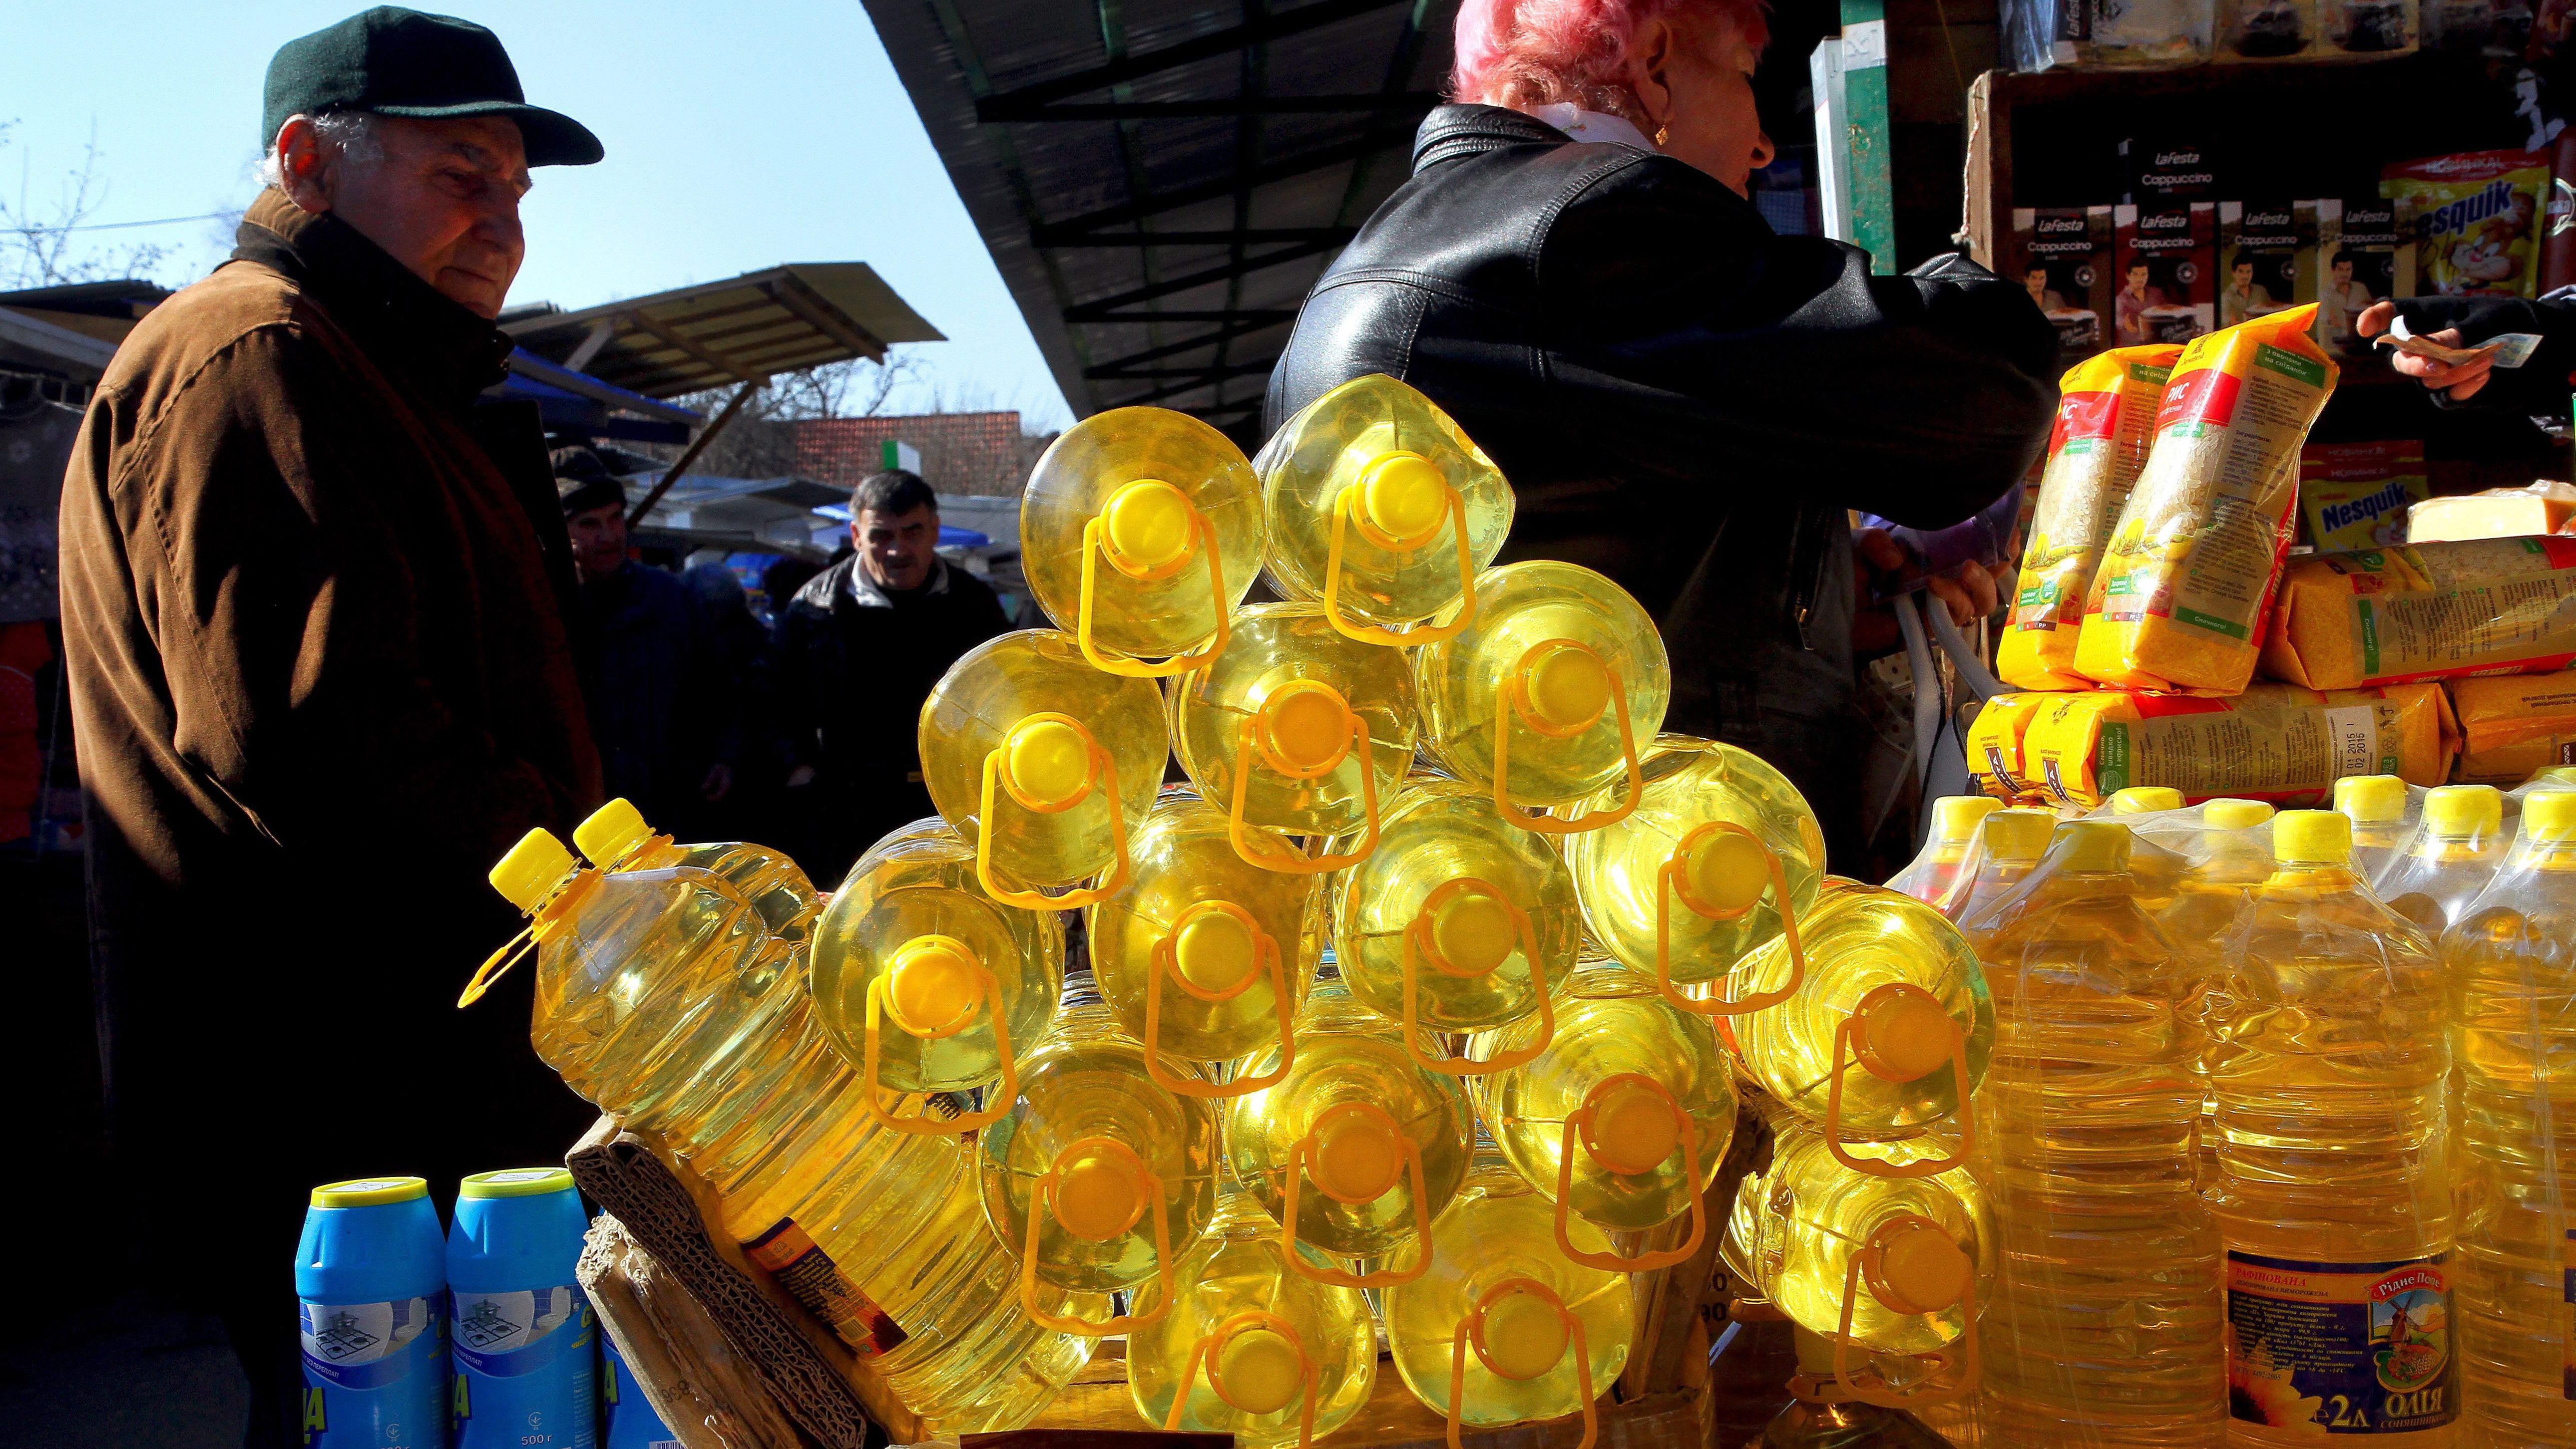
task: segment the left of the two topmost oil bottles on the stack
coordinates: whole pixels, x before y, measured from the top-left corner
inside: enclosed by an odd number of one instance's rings
[[[1208,643],[1244,602],[1267,543],[1262,484],[1242,448],[1162,407],[1113,407],[1066,427],[1020,494],[1030,597],[1079,638],[1090,569],[1090,636],[1105,654],[1159,659]]]

